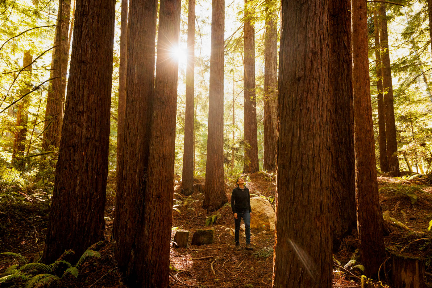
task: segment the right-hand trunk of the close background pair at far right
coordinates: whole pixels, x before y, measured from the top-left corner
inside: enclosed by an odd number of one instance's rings
[[[396,124],[394,122],[393,85],[391,83],[390,54],[388,50],[387,19],[385,15],[385,4],[382,4],[378,15],[380,16],[380,44],[385,108],[385,133],[387,144],[388,171],[399,174],[399,160],[397,153]]]

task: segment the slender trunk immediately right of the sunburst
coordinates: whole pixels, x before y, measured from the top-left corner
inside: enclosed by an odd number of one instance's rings
[[[187,16],[186,115],[184,117],[184,149],[181,190],[194,192],[194,70],[195,70],[195,0],[189,0]]]

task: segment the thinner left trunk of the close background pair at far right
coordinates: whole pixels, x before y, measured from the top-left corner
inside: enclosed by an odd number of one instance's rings
[[[384,98],[382,87],[382,70],[381,70],[381,44],[380,44],[380,28],[379,19],[374,10],[374,28],[375,28],[375,67],[377,74],[377,91],[378,91],[378,137],[379,137],[379,159],[381,171],[388,172],[387,164],[387,144],[385,134],[385,114],[384,114]]]

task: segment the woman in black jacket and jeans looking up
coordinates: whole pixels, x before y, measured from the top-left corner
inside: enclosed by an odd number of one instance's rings
[[[240,234],[241,218],[245,222],[246,230],[246,250],[254,250],[251,246],[251,200],[249,198],[249,189],[245,187],[245,180],[238,177],[236,180],[237,187],[232,190],[231,209],[234,214],[235,223],[235,249],[240,250],[240,242],[238,241]]]

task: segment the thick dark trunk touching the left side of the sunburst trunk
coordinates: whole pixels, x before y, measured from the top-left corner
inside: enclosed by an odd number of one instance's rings
[[[126,108],[123,169],[117,173],[114,239],[118,267],[130,285],[143,281],[143,221],[152,199],[146,195],[150,123],[155,80],[157,0],[130,1],[127,25]],[[151,212],[151,211],[149,211]]]

